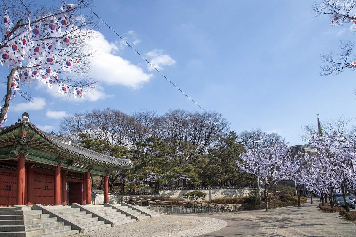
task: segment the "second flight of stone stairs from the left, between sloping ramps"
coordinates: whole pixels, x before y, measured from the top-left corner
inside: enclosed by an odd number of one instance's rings
[[[80,208],[71,208],[71,206],[47,206],[47,209],[84,226],[84,232],[111,226],[110,224],[105,224],[105,221],[99,221],[98,217],[87,214],[86,211],[80,211]]]

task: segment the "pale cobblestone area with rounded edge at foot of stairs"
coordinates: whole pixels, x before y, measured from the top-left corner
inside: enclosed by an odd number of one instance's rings
[[[70,237],[190,237],[225,226],[226,221],[210,217],[164,215]]]

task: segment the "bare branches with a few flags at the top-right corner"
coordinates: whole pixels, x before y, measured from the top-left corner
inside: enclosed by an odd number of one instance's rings
[[[356,31],[356,0],[322,0],[312,5],[312,12],[316,16],[329,15],[330,25],[351,24],[351,29]],[[340,41],[340,52],[335,55],[331,52],[321,54],[322,72],[320,75],[331,76],[345,69],[356,69],[356,58],[353,54],[354,41]]]

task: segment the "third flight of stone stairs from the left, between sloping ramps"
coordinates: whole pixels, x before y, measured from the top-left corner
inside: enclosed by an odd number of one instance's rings
[[[114,226],[136,221],[136,219],[131,219],[131,216],[122,214],[120,211],[112,209],[111,207],[106,207],[104,205],[87,205],[85,208],[114,222]]]

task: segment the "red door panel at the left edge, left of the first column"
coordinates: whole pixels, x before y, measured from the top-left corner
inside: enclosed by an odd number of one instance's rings
[[[0,169],[0,206],[16,205],[16,171]]]

